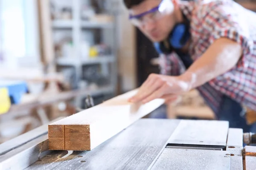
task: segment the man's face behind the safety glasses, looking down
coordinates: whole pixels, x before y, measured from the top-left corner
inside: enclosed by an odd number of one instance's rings
[[[133,16],[143,14],[157,7],[160,2],[161,0],[144,0],[139,5],[131,8],[131,14]],[[169,3],[172,3],[171,0]],[[156,17],[157,19],[154,19],[154,12],[147,13],[138,18],[140,21],[146,22],[143,22],[143,24],[137,27],[152,42],[160,42],[168,37],[170,31],[175,25],[175,15],[173,11],[174,8],[171,6],[168,13],[162,15],[161,17]]]

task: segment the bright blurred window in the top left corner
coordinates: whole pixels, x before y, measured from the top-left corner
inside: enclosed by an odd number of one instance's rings
[[[37,1],[0,0],[2,66],[34,65],[40,61],[39,54]]]

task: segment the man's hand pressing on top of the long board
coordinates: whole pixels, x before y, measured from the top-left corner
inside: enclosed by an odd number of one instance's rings
[[[192,82],[192,75],[183,77],[151,74],[140,87],[138,93],[131,97],[129,101],[147,103],[162,98],[166,102],[171,102],[177,99],[177,95],[190,91]]]

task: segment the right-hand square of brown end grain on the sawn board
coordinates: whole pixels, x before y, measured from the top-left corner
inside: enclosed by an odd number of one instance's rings
[[[91,150],[90,125],[65,125],[65,150]]]

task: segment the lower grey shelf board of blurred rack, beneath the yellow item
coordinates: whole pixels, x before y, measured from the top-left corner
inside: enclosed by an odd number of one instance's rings
[[[60,58],[57,60],[58,65],[85,65],[85,64],[100,64],[100,63],[108,63],[114,62],[115,57],[113,55],[109,56],[99,56],[90,59],[83,58]]]

